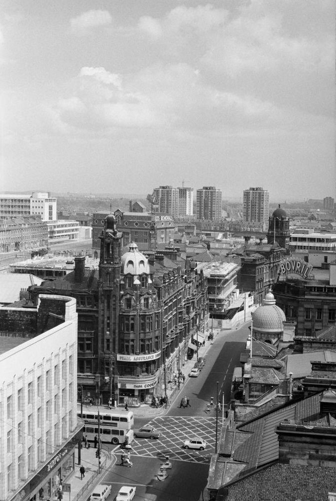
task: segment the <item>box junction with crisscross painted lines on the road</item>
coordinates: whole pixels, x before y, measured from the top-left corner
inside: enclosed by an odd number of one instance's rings
[[[215,417],[156,417],[149,423],[162,433],[159,439],[135,438],[132,442],[133,456],[158,457],[171,460],[190,461],[197,463],[210,462],[211,454],[215,449],[216,418]],[[218,423],[218,430],[220,428]],[[203,451],[184,449],[183,442],[187,438],[199,436],[203,438],[207,447]],[[114,452],[122,452],[119,448]]]

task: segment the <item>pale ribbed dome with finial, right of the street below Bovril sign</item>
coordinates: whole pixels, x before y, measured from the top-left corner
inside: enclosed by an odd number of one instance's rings
[[[263,300],[262,306],[259,306],[252,314],[253,330],[267,333],[283,332],[283,322],[286,321],[285,314],[275,305],[273,294],[268,291]]]

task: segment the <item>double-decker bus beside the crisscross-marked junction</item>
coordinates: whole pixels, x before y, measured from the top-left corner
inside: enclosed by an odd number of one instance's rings
[[[132,411],[104,409],[90,405],[83,406],[81,413],[80,407],[78,404],[77,415],[78,417],[83,416],[83,434],[89,441],[93,441],[95,435],[98,437],[98,409],[102,442],[118,444],[125,440],[130,443],[133,440],[134,415]]]

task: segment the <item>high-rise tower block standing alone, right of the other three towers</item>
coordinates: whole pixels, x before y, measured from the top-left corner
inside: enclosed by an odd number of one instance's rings
[[[261,188],[249,188],[244,190],[243,219],[247,222],[259,222],[265,230],[269,217],[269,193]]]

